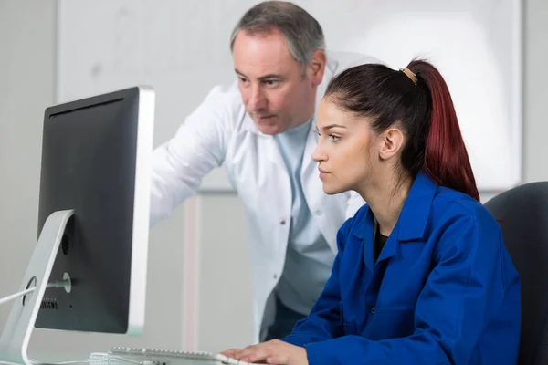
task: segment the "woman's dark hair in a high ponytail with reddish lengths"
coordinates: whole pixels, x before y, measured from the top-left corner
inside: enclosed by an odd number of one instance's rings
[[[415,75],[408,76],[409,70]],[[415,178],[422,170],[438,185],[479,201],[446,82],[424,60],[411,61],[406,72],[379,64],[348,68],[332,79],[325,96],[342,110],[371,118],[376,133],[399,122],[406,135],[401,162],[407,172]]]

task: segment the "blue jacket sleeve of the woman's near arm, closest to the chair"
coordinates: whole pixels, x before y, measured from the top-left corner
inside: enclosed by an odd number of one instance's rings
[[[505,251],[501,252],[496,222],[476,218],[453,220],[438,238],[436,266],[417,298],[411,336],[380,341],[343,336],[309,343],[305,349],[310,365],[353,364],[357,359],[363,364],[468,364],[477,361],[471,356],[494,313],[504,317],[505,328],[515,330],[509,335],[505,329],[493,351],[502,351],[497,358],[503,360],[498,363],[515,364],[521,316],[519,277],[513,266],[502,264],[508,261]]]

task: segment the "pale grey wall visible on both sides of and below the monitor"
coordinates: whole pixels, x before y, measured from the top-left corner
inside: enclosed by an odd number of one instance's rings
[[[56,1],[0,1],[0,297],[16,292],[37,241],[44,109],[54,102]],[[36,330],[30,349],[179,349],[182,343],[183,213],[153,228],[142,338]],[[0,307],[4,328],[9,305]]]

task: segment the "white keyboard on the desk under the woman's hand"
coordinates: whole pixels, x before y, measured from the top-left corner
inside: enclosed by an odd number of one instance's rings
[[[139,349],[123,347],[111,348],[108,353],[95,352],[91,354],[90,358],[94,360],[112,360],[112,363],[120,363],[125,360],[127,362],[141,365],[259,365],[230,359],[224,355],[206,351],[175,351],[170,349]]]

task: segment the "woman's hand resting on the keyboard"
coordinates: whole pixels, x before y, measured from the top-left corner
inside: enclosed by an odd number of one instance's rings
[[[279,339],[272,339],[245,349],[228,349],[222,352],[227,358],[240,361],[277,364],[277,365],[308,365],[306,350],[290,345]]]

